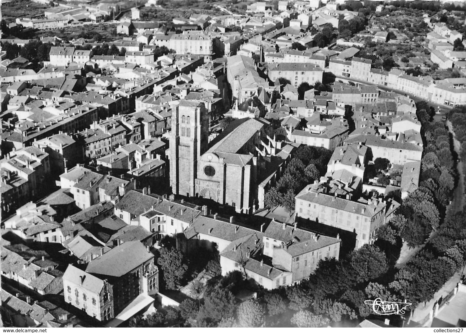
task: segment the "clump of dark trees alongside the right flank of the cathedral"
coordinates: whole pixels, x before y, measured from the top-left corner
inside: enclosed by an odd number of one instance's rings
[[[295,209],[295,195],[304,186],[318,180],[327,170],[332,152],[329,149],[314,146],[302,146],[297,149],[295,157],[288,163],[285,172],[265,195],[265,205],[284,206],[289,212]]]

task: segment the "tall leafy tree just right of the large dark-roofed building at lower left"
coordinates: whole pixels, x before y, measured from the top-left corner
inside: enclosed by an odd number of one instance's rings
[[[183,253],[175,248],[160,248],[160,257],[157,263],[163,273],[165,287],[173,290],[178,289],[188,269]]]

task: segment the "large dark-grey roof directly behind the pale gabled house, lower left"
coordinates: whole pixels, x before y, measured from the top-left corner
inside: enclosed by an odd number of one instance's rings
[[[89,262],[86,272],[119,277],[153,258],[140,241],[127,241]]]

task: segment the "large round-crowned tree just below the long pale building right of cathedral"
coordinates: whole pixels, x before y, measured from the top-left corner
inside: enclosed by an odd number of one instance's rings
[[[354,271],[356,282],[367,282],[387,272],[387,257],[377,246],[364,244],[351,255],[350,267]]]

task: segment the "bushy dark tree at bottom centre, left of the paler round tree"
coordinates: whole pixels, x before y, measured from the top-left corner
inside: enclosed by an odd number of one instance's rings
[[[198,318],[219,321],[233,317],[235,298],[230,290],[216,287],[204,297],[204,305],[199,309]]]

